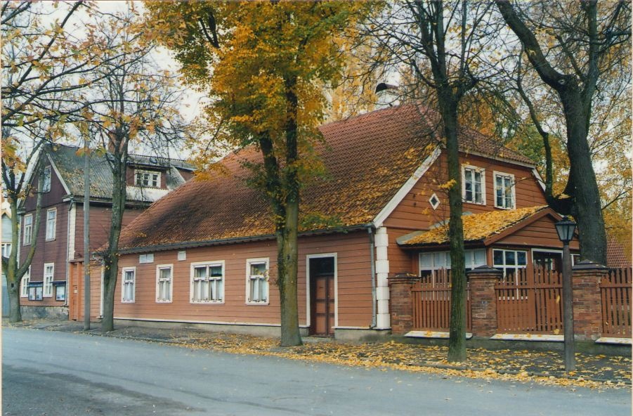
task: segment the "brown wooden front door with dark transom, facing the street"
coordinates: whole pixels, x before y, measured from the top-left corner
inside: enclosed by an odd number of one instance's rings
[[[310,259],[310,334],[334,336],[334,257]]]

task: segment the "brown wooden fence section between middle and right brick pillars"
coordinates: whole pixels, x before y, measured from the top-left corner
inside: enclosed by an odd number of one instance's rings
[[[497,332],[562,334],[562,273],[519,268],[495,285]]]

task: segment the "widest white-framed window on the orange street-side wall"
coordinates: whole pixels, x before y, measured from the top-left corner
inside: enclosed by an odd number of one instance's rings
[[[224,261],[191,264],[190,301],[192,304],[224,302]]]

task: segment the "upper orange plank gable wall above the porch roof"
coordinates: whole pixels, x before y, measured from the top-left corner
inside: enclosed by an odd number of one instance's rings
[[[488,212],[495,210],[495,187],[493,171],[505,174],[513,174],[516,181],[516,207],[534,207],[536,205],[547,204],[532,170],[528,167],[521,167],[509,163],[497,162],[478,156],[460,157],[462,164],[471,164],[485,169],[485,194],[486,204],[469,204],[464,202],[464,212]],[[440,186],[448,181],[447,161],[445,153],[433,163],[426,171],[426,174],[419,179],[416,185],[404,197],[398,207],[393,210],[384,224],[390,228],[400,228],[403,230],[425,230],[429,226],[448,218],[448,194],[441,190]],[[437,209],[431,207],[429,198],[435,193],[440,200]]]

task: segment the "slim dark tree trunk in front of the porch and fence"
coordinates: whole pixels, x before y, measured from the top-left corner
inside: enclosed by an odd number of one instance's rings
[[[449,94],[438,91],[439,95]],[[464,226],[462,223],[462,175],[459,171],[459,147],[457,141],[457,102],[452,98],[438,99],[448,158],[448,180],[452,182],[448,190],[450,221],[450,333],[448,339],[448,360],[466,360],[466,273],[464,269]]]

